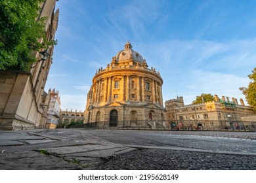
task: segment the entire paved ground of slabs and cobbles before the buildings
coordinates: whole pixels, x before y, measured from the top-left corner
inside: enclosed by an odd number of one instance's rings
[[[131,141],[128,141],[128,136],[122,135],[125,133],[130,135]],[[145,134],[146,139],[143,137]],[[140,137],[142,138],[139,140]],[[214,152],[211,150],[214,147],[210,147],[212,144],[207,141],[205,144],[208,144],[209,148],[207,145],[201,147],[203,142],[188,142],[192,145],[184,144],[187,148],[176,148],[177,144],[173,142],[169,144],[170,138],[184,137],[217,137],[217,141],[218,138],[226,141],[223,150],[227,146],[228,151]],[[160,142],[162,139],[163,142]],[[168,141],[165,141],[166,139]],[[240,148],[240,143],[236,141],[244,142],[244,148]],[[146,146],[147,142],[155,144]],[[231,146],[229,142],[235,142],[235,146]],[[255,170],[255,143],[256,133],[241,131],[0,131],[0,169]],[[156,146],[158,144],[160,146]]]

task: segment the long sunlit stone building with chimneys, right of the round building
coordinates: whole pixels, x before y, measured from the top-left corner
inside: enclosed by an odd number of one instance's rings
[[[185,126],[191,123],[201,123],[209,129],[211,126],[234,126],[242,122],[244,116],[256,115],[253,108],[244,105],[244,101],[240,99],[240,105],[237,99],[222,97],[219,99],[215,95],[215,101],[205,102],[197,105],[184,105],[182,97],[165,101],[167,110],[168,125],[175,122],[182,122]]]

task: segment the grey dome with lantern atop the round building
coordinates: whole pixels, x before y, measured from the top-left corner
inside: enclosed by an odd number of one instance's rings
[[[127,59],[133,59],[134,61],[143,63],[142,56],[132,49],[131,43],[129,41],[125,44],[125,49],[116,54],[116,61],[123,61]]]

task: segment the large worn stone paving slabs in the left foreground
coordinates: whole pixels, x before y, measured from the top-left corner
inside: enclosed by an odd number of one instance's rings
[[[0,132],[0,169],[87,169],[131,150],[83,131]]]

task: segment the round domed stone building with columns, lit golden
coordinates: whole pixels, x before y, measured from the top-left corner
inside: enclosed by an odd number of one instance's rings
[[[125,44],[105,69],[98,69],[87,95],[85,123],[99,127],[166,127],[163,79]]]

